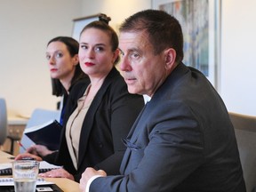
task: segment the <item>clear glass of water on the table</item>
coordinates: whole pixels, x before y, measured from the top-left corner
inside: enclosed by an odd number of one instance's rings
[[[35,192],[39,162],[19,160],[12,163],[15,192]]]

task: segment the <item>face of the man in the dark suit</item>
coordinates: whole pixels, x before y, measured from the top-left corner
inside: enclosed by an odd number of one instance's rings
[[[128,91],[153,96],[166,77],[164,51],[154,54],[146,32],[121,32],[119,48]]]

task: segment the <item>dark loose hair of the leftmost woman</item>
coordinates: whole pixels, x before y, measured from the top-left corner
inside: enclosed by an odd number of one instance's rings
[[[52,42],[61,42],[63,44],[66,44],[67,48],[68,48],[68,52],[70,54],[71,57],[74,57],[76,54],[78,54],[78,50],[79,50],[79,44],[78,42],[69,36],[57,36],[55,38],[52,38],[52,40],[50,40],[47,44],[47,46],[49,44],[51,44]],[[76,82],[84,77],[87,77],[86,74],[84,74],[84,72],[82,71],[82,69],[80,68],[80,65],[78,63],[78,65],[76,65],[76,70],[75,70],[75,74],[72,77],[71,83],[70,83],[70,87],[72,87],[73,84],[76,84]],[[60,79],[57,78],[52,78],[52,95],[56,95],[57,97],[62,96],[64,93],[66,92],[65,88],[63,87],[63,85],[60,83]]]

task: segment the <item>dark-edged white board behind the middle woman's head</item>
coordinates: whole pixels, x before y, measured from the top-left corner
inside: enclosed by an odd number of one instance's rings
[[[79,41],[79,36],[83,28],[93,20],[99,20],[99,14],[91,15],[88,17],[78,18],[73,20],[72,37]]]

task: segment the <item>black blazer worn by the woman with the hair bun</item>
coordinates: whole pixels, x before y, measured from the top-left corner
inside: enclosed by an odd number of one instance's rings
[[[74,87],[72,95],[70,93],[65,114],[67,121],[67,116],[76,109],[77,99],[82,97],[86,87],[78,90]],[[68,153],[66,126],[62,132],[59,153],[52,155],[56,156],[54,163],[63,165],[75,176],[76,181],[80,180],[81,174],[89,166],[106,170],[108,174],[118,173],[126,149],[122,139],[127,137],[143,106],[143,97],[130,94],[124,78],[113,68],[92,100],[84,118],[77,171]]]

